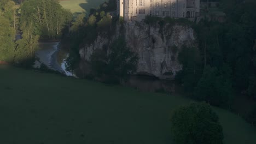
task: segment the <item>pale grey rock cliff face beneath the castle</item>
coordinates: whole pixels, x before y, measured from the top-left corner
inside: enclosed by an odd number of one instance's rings
[[[90,62],[90,55],[94,50],[103,47],[109,49],[112,41],[124,34],[127,47],[139,56],[137,74],[172,79],[179,70],[182,70],[182,64],[178,62],[178,53],[182,46],[191,47],[196,44],[194,31],[189,26],[160,26],[134,21],[125,22],[123,25],[122,33],[118,25],[112,37],[99,34],[94,43],[84,44],[80,49],[83,61]]]

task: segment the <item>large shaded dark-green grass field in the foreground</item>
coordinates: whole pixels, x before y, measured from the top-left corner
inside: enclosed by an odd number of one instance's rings
[[[0,143],[170,144],[170,113],[188,104],[178,95],[0,65]],[[255,144],[256,130],[214,108],[226,144]]]

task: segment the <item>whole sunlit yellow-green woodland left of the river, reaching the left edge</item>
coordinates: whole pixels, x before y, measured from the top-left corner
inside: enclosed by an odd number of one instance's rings
[[[0,61],[30,67],[38,40],[60,38],[72,14],[57,0],[30,0],[21,7],[15,2],[0,1]]]

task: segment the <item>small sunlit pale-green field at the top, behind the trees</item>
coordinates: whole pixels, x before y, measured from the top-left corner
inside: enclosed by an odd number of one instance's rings
[[[91,8],[97,8],[106,0],[61,0],[63,8],[70,9],[72,13],[90,13]],[[87,15],[88,16],[88,15]]]

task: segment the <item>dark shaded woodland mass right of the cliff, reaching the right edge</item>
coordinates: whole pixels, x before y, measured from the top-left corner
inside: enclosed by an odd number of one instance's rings
[[[199,51],[179,53],[183,70],[177,80],[182,81],[191,97],[218,106],[229,106],[233,92],[256,97],[256,2],[229,2],[221,4],[225,22],[206,18],[193,26]],[[193,57],[200,62],[189,63]]]

